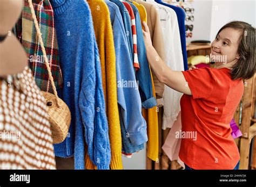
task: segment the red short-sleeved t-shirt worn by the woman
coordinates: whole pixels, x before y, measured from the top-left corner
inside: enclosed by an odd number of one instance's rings
[[[242,98],[244,83],[228,68],[182,71],[191,95],[180,100],[179,157],[193,169],[234,169],[240,155],[230,121]]]

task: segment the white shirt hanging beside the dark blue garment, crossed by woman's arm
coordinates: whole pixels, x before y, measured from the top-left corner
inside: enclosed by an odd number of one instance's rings
[[[164,47],[166,53],[166,64],[172,70],[183,71],[183,54],[181,50],[180,32],[178,25],[178,18],[176,12],[171,8],[151,2],[157,6],[161,20],[161,28],[164,37]],[[167,85],[165,85],[163,100],[161,105],[164,106],[163,124],[162,128],[171,128],[174,121],[180,112],[180,98],[183,93],[180,93]]]

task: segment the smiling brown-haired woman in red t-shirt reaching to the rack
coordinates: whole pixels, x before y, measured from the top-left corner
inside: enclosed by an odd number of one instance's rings
[[[243,81],[255,74],[255,28],[243,21],[224,25],[211,44],[214,68],[174,71],[160,59],[149,27],[143,25],[147,59],[154,74],[161,83],[184,93],[180,106],[185,138],[181,139],[179,158],[185,169],[238,169],[240,155],[230,121],[244,92]]]

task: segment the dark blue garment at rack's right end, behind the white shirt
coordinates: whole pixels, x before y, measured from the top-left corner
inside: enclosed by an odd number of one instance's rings
[[[186,30],[185,30],[186,13],[183,9],[181,9],[178,6],[174,6],[174,5],[164,3],[161,0],[155,0],[155,2],[157,2],[161,5],[167,6],[171,9],[173,9],[176,12],[176,15],[177,15],[177,18],[178,18],[178,24],[179,24],[179,32],[180,32],[180,41],[181,41],[181,48],[182,48],[182,54],[183,54],[184,70],[187,70],[188,65],[187,65],[187,50],[186,50]]]

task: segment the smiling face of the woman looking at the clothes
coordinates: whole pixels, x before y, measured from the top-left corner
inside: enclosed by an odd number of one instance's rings
[[[242,31],[234,28],[224,28],[211,44],[211,56],[213,61],[230,63],[236,58],[239,59],[238,45]]]

